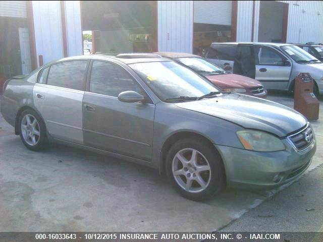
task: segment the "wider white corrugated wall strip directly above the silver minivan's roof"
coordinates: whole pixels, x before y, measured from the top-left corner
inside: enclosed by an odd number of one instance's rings
[[[252,13],[252,1],[238,1],[237,41],[251,41]]]

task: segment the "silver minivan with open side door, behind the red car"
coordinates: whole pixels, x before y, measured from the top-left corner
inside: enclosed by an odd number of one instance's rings
[[[314,93],[323,94],[323,64],[293,44],[228,42],[212,43],[205,56],[208,61],[230,72],[254,78],[266,89],[293,91],[299,73],[314,79]]]

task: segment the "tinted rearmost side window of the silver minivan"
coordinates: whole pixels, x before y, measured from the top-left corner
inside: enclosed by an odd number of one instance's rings
[[[207,53],[207,58],[234,61],[236,53],[236,44],[211,44]]]

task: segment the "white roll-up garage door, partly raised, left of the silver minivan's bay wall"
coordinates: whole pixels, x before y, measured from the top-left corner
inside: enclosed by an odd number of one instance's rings
[[[194,1],[194,23],[231,25],[232,1]]]

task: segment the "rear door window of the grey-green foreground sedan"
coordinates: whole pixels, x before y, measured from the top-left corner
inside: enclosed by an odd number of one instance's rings
[[[85,91],[87,64],[88,61],[68,61],[52,65],[47,85]]]

